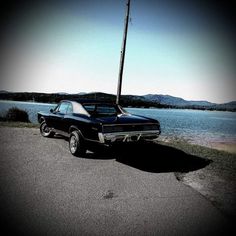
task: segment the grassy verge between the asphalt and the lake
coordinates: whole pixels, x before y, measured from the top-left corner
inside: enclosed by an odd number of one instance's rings
[[[0,127],[39,128],[39,124],[0,122]],[[210,164],[206,167],[190,172],[174,172],[175,177],[207,198],[229,219],[236,217],[236,153],[177,139],[160,139],[157,143],[209,160]]]

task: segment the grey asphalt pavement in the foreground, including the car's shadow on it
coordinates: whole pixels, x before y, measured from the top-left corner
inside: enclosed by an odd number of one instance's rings
[[[228,229],[218,209],[175,178],[201,161],[173,148],[132,145],[76,158],[65,139],[29,128],[0,128],[0,144],[2,232],[223,235]]]

